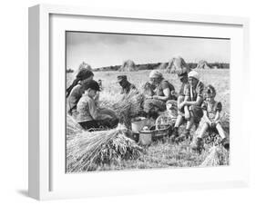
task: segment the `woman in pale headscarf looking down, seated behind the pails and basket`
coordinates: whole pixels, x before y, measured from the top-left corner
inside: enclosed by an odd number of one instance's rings
[[[150,92],[145,95],[144,112],[152,117],[157,117],[158,112],[166,110],[167,101],[177,99],[174,95],[174,86],[165,80],[159,71],[154,70],[149,73],[149,82],[146,85]]]

